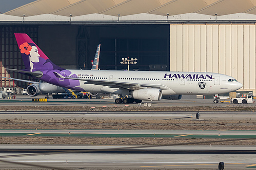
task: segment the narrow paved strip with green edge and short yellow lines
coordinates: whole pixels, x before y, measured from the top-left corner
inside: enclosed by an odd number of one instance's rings
[[[0,130],[8,137],[117,137],[256,139],[256,131],[235,130]]]

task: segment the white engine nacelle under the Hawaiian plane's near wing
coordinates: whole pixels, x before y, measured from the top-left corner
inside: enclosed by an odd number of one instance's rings
[[[144,88],[132,91],[131,95],[133,99],[160,101],[162,98],[162,90],[157,88]]]

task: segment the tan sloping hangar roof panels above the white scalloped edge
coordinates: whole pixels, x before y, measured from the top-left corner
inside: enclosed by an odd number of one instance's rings
[[[134,14],[179,15],[196,13],[228,15],[248,13],[256,15],[256,0],[37,0],[4,14],[34,16],[54,14],[83,16],[87,14],[127,16]]]

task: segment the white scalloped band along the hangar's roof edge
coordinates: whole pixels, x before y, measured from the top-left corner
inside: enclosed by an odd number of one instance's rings
[[[12,15],[5,15],[0,14],[0,24],[6,23],[68,23],[68,24],[105,24],[108,23],[151,23],[151,22],[158,22],[158,23],[175,23],[175,22],[193,22],[193,21],[209,21],[215,23],[218,22],[252,22],[255,23],[256,15],[253,14],[246,14],[246,13],[237,13],[237,14],[229,14],[229,15],[222,15],[218,16],[218,20],[216,20],[215,16],[212,15],[204,15],[204,14],[197,14],[197,13],[187,13],[187,14],[179,14],[179,15],[172,15],[172,16],[162,16],[162,15],[155,15],[155,14],[148,14],[148,13],[141,13],[141,14],[133,14],[133,15],[126,15],[126,16],[112,16],[112,15],[105,15],[105,14],[87,14],[87,15],[80,15],[80,16],[61,16],[61,15],[54,15],[54,14],[41,14],[41,15],[34,15],[34,16],[12,16]],[[105,21],[105,22],[104,22]],[[168,21],[168,22],[166,22]]]

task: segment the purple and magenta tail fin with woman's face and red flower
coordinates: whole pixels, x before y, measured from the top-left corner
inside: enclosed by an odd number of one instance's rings
[[[44,52],[29,38],[27,34],[15,34],[19,50],[27,71],[52,70],[63,68],[53,64]]]

